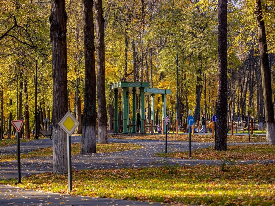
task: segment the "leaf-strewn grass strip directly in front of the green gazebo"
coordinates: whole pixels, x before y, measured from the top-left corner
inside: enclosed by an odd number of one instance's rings
[[[139,139],[139,140],[165,140],[165,135],[109,135],[108,138]],[[262,135],[250,135],[251,142],[266,142],[266,137]],[[168,134],[168,141],[189,141],[188,134]],[[215,136],[210,134],[194,134],[191,136],[192,142],[215,142]],[[227,142],[248,142],[248,135],[229,135]]]

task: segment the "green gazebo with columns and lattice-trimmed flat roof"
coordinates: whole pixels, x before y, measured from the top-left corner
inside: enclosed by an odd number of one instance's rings
[[[123,132],[129,133],[127,125],[129,124],[129,94],[133,94],[133,119],[132,124],[136,124],[136,94],[140,94],[140,133],[143,133],[143,122],[145,120],[145,98],[144,95],[151,96],[151,120],[155,124],[155,95],[162,95],[162,118],[166,115],[166,94],[171,94],[170,89],[158,89],[150,88],[149,82],[117,82],[111,85],[111,90],[115,92],[115,126],[114,133],[118,133],[118,92],[122,94],[122,110],[123,110]],[[165,132],[165,127],[164,127]],[[133,127],[133,133],[135,133],[135,126]]]

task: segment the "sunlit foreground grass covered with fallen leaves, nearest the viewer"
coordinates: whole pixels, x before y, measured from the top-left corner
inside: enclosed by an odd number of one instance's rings
[[[72,195],[190,205],[274,205],[273,164],[73,171]],[[15,185],[16,179],[0,183]],[[67,193],[67,176],[23,177],[18,187]],[[171,204],[171,205],[172,205]]]

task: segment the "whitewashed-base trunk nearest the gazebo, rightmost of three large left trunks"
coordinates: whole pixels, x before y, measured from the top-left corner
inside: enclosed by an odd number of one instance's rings
[[[97,30],[97,105],[98,105],[98,143],[108,143],[107,110],[105,95],[105,45],[102,0],[95,0]]]

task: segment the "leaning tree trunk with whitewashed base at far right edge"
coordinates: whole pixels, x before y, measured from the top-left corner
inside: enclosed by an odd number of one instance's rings
[[[260,60],[261,60],[261,74],[262,74],[262,85],[264,94],[264,109],[266,113],[266,140],[268,144],[275,144],[275,120],[274,110],[272,104],[272,88],[271,88],[271,75],[270,67],[268,62],[268,48],[266,43],[266,31],[264,26],[264,19],[262,16],[262,5],[261,0],[255,2],[255,14],[258,25],[258,44],[260,49]]]

